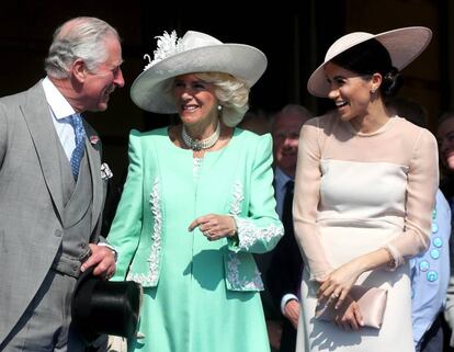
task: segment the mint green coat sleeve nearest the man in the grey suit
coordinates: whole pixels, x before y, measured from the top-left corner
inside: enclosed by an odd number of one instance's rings
[[[129,135],[127,179],[109,232],[109,243],[118,253],[114,281],[125,280],[140,239],[143,223],[143,156],[137,130]]]

